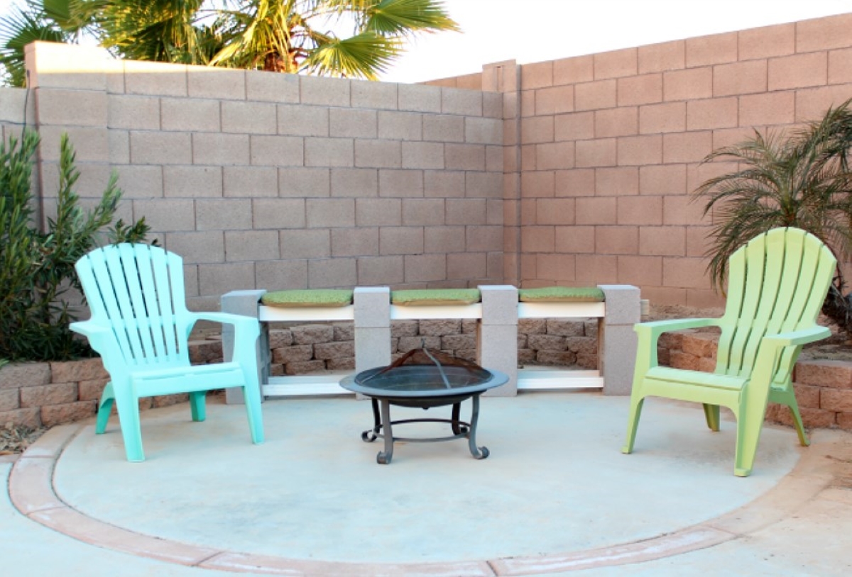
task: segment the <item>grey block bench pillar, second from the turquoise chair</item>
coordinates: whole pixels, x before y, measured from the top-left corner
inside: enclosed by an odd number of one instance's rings
[[[356,287],[355,371],[390,364],[390,288]]]

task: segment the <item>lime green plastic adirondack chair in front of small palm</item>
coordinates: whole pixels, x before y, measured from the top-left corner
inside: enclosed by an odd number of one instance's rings
[[[825,339],[816,324],[837,261],[820,240],[797,228],[776,228],[752,239],[728,260],[728,302],[720,318],[636,324],[636,372],[630,396],[627,442],[633,451],[645,397],[703,403],[707,426],[719,430],[719,407],[737,421],[734,475],[747,477],[769,401],[790,408],[800,443],[809,444],[792,388],[792,369],[802,346]],[[719,327],[713,373],[659,367],[660,334]]]

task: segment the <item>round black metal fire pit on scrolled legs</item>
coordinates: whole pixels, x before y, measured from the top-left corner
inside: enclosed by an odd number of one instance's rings
[[[371,443],[384,439],[384,450],[376,456],[379,464],[387,465],[394,456],[394,441],[431,443],[467,438],[470,454],[485,459],[488,449],[476,446],[476,423],[479,420],[479,397],[488,389],[506,384],[509,377],[498,371],[489,371],[476,363],[451,357],[425,348],[409,351],[404,357],[387,367],[370,368],[349,375],[340,386],[370,397],[373,427],[361,433],[361,439]],[[461,404],[472,398],[470,422],[459,420]],[[379,402],[382,410],[379,411]],[[390,405],[423,408],[452,405],[452,419],[390,420]],[[448,437],[408,438],[394,437],[393,426],[406,423],[449,423],[452,435]]]

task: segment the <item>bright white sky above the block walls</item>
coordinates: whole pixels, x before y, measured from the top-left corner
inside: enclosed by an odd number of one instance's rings
[[[852,0],[444,0],[463,34],[417,39],[380,78],[416,83],[501,60],[556,60],[852,13]]]

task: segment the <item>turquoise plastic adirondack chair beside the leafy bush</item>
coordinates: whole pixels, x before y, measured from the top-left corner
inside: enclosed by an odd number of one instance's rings
[[[251,440],[263,442],[255,344],[260,328],[251,317],[187,311],[183,260],[147,244],[95,249],[76,264],[91,318],[72,323],[101,354],[110,381],[98,406],[95,432],[107,428],[112,403],[124,437],[127,460],[145,460],[139,399],[189,393],[193,420],[204,420],[207,391],[243,387]],[[233,324],[233,359],[192,365],[187,342],[199,320]]]

